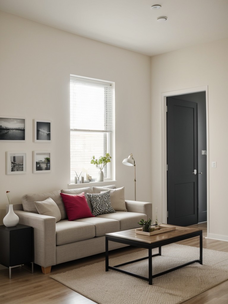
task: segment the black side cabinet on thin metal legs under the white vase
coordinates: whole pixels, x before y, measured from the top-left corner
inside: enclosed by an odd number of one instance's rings
[[[33,249],[32,249],[31,226],[17,224],[14,227],[0,226],[0,264],[9,268],[11,279],[11,268],[26,263],[32,263],[33,273]]]

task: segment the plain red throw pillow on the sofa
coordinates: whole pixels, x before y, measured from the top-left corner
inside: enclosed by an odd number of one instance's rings
[[[69,221],[94,217],[89,209],[84,193],[85,192],[77,195],[60,193]]]

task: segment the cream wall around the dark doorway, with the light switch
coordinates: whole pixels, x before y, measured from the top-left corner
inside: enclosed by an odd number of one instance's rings
[[[152,203],[161,214],[161,93],[208,86],[209,237],[228,240],[228,39],[151,58]],[[212,161],[217,168],[212,168]]]

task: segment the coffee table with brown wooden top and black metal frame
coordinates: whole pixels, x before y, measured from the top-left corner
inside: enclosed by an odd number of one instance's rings
[[[165,225],[165,224],[162,224]],[[167,227],[170,227],[172,225],[167,225]],[[189,261],[185,264],[181,264],[180,266],[171,268],[169,270],[157,273],[155,275],[152,275],[152,257],[161,255],[161,247],[164,245],[172,244],[178,241],[190,239],[192,237],[198,237],[199,236],[199,260]],[[109,241],[127,244],[131,246],[136,246],[140,248],[148,249],[148,257],[143,257],[134,261],[126,262],[123,264],[119,264],[116,266],[109,266]],[[158,254],[152,255],[152,249],[159,248]],[[152,279],[156,278],[160,275],[164,275],[168,272],[177,270],[179,268],[185,267],[187,265],[193,264],[193,263],[199,263],[202,264],[202,230],[191,228],[191,227],[181,227],[176,226],[176,230],[155,234],[151,236],[142,235],[142,234],[136,234],[135,229],[125,230],[125,231],[119,231],[114,233],[107,233],[105,234],[105,271],[109,271],[109,269],[119,271],[122,273],[125,273],[127,275],[132,275],[133,277],[140,278],[143,280],[146,280],[149,282],[149,285],[152,285]],[[146,260],[148,259],[148,278],[136,275],[134,273],[119,269],[119,267],[135,263],[138,261]]]

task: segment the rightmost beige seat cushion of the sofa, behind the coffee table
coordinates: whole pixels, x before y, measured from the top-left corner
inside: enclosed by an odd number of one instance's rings
[[[97,217],[119,220],[120,231],[140,227],[140,219],[147,219],[146,214],[136,212],[116,211],[116,213],[100,214]]]

